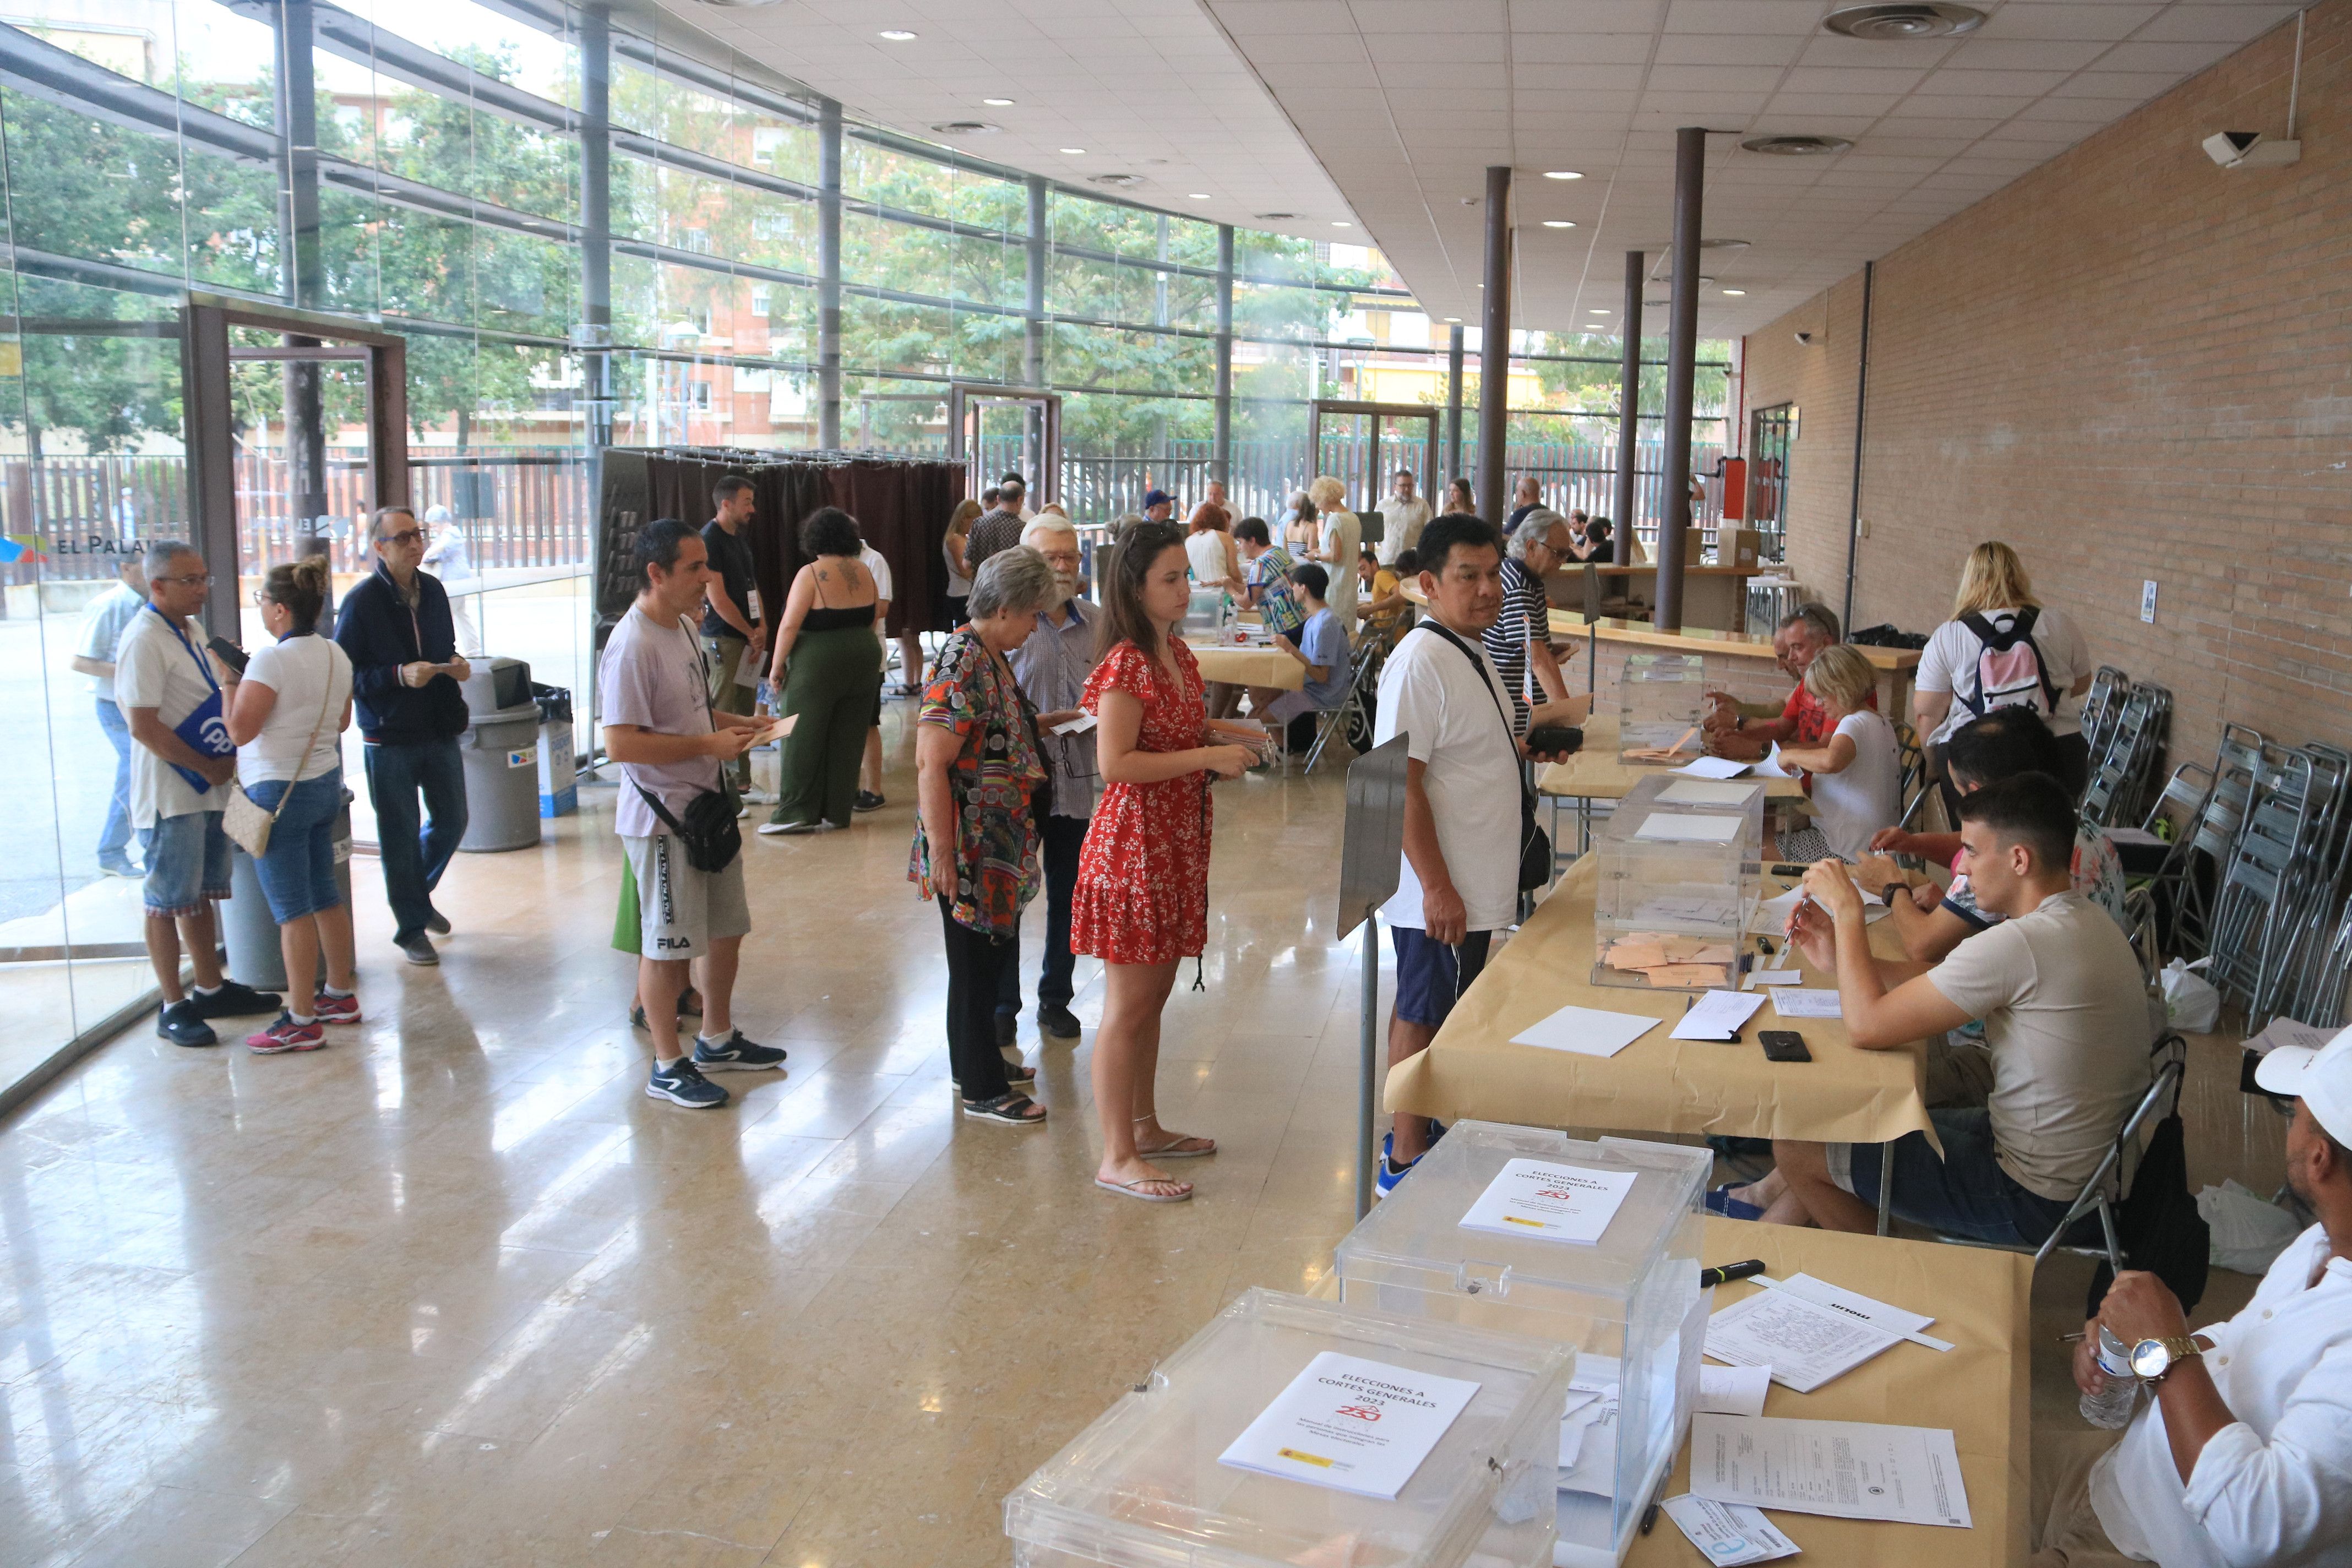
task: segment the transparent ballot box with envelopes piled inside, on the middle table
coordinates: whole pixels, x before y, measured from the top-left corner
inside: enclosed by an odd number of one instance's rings
[[[1745,790],[1740,799],[1731,792]],[[1762,898],[1764,785],[1639,780],[1595,835],[1592,983],[1635,990],[1738,985]]]

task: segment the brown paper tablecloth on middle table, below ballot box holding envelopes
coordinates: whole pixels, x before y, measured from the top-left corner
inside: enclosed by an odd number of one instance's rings
[[[1456,1121],[1517,1121],[1653,1133],[1736,1133],[1809,1143],[1889,1143],[1929,1131],[1922,1100],[1926,1048],[1863,1051],[1837,1018],[1776,1018],[1771,1004],[1740,1044],[1668,1039],[1686,992],[1592,985],[1592,882],[1585,856],[1454,1004],[1437,1041],[1388,1074],[1388,1110]],[[1776,889],[1766,889],[1776,891]],[[1893,933],[1872,933],[1900,957]],[[1830,976],[1802,964],[1811,987]],[[1515,1046],[1510,1037],[1564,1006],[1668,1020],[1611,1058]],[[1804,1034],[1811,1063],[1769,1063],[1757,1030]],[[1933,1140],[1933,1131],[1929,1131]]]

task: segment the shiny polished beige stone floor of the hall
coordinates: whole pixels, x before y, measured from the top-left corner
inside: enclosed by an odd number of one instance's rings
[[[369,1020],[313,1056],[134,1030],[0,1126],[0,1561],[835,1568],[1009,1561],[1000,1500],[1251,1284],[1352,1220],[1341,776],[1218,792],[1207,990],[1183,973],[1185,1206],[1089,1185],[1089,1037],[1037,1131],[957,1119],[913,778],[849,832],[755,839],[736,1103],[640,1093],[607,947],[612,790],[536,853],[461,856],[440,969],[360,867]],[[1035,933],[1033,933],[1035,950]],[[2201,1041],[2192,1178],[2277,1182],[2277,1124]],[[2037,1288],[2037,1420],[2072,1420]],[[2216,1274],[2209,1312],[2251,1281]],[[2039,1333],[2042,1328],[2049,1333]]]

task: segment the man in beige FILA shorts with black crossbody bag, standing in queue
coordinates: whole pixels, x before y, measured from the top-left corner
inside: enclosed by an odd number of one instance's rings
[[[715,712],[691,611],[710,585],[701,534],[661,517],[630,557],[637,602],[597,665],[604,750],[621,769],[614,830],[637,879],[637,1004],[654,1037],[644,1093],[689,1110],[727,1103],[706,1072],[783,1067],[783,1051],[743,1039],[729,1016],[736,961],[750,931],[743,832],[727,764],[767,719]],[[703,1032],[677,1039],[677,997],[703,994]]]

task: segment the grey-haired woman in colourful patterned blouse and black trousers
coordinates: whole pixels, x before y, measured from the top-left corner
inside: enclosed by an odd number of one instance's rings
[[[1037,811],[1047,783],[1037,724],[1004,656],[1054,597],[1028,545],[981,562],[922,691],[915,729],[915,851],[906,877],[938,900],[948,936],[948,1063],[964,1114],[1033,1126],[1044,1107],[1011,1086],[1037,1074],[997,1056],[997,987],[1021,964],[1021,905],[1037,896]]]

